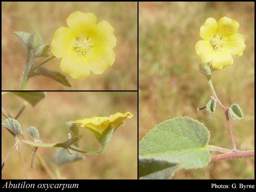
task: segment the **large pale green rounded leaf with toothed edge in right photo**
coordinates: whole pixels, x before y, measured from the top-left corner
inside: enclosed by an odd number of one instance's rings
[[[151,129],[139,142],[139,158],[181,163],[181,168],[201,168],[210,161],[206,149],[209,131],[197,120],[175,117]]]

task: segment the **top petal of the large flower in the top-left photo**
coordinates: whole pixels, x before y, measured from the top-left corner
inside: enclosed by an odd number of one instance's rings
[[[75,37],[83,38],[88,37],[92,29],[96,26],[97,17],[91,12],[82,13],[75,11],[67,17],[66,23]]]

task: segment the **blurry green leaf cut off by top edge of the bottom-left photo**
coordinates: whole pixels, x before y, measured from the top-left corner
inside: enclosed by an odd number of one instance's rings
[[[11,91],[11,92],[25,99],[32,106],[34,106],[37,102],[39,102],[41,99],[46,97],[45,91]]]

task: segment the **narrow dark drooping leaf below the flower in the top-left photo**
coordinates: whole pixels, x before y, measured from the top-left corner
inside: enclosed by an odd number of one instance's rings
[[[69,84],[68,80],[66,79],[66,76],[61,74],[59,71],[53,71],[53,70],[49,70],[49,69],[39,66],[38,72],[36,73],[36,75],[47,76],[65,86],[67,86],[67,87],[71,87],[71,84]]]

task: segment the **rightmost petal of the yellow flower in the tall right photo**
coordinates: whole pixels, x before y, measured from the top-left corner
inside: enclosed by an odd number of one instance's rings
[[[226,39],[225,48],[234,56],[241,56],[245,49],[244,37],[240,33],[229,36]]]

